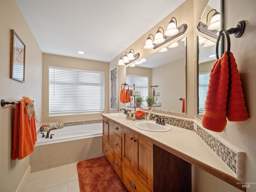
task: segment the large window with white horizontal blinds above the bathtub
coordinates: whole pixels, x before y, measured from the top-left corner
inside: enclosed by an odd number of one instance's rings
[[[50,116],[104,112],[104,72],[50,67]]]

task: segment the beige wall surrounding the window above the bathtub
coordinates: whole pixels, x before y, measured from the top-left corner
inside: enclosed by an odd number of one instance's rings
[[[104,113],[108,113],[108,82],[109,82],[109,66],[106,62],[92,61],[86,59],[58,56],[52,54],[43,54],[43,122],[71,122],[82,120],[101,119],[101,113],[82,114],[82,115],[66,115],[66,116],[49,116],[49,66],[57,66],[64,68],[77,68],[83,70],[103,71],[105,77],[105,102]],[[72,102],[72,101],[64,101]]]

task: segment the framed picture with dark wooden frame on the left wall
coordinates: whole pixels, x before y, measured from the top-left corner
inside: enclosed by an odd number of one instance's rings
[[[11,30],[11,47],[10,47],[10,78],[24,82],[25,75],[25,44],[16,34]]]

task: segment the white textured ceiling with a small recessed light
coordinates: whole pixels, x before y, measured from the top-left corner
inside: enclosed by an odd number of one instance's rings
[[[16,0],[43,53],[102,62],[110,62],[184,1]]]

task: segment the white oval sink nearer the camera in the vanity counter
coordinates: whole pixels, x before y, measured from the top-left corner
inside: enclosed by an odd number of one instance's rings
[[[138,129],[146,130],[146,131],[154,131],[154,132],[166,132],[172,130],[172,126],[166,125],[159,125],[155,122],[137,122],[134,126]]]

